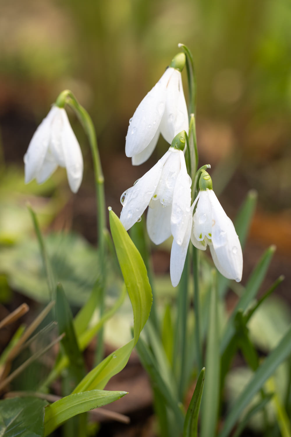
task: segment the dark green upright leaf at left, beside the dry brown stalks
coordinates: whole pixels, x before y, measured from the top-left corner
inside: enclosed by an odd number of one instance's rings
[[[79,382],[85,375],[84,361],[75,334],[72,311],[62,284],[58,284],[56,288],[55,308],[58,332],[60,335],[65,333],[65,337],[61,340],[61,344],[70,361],[70,367],[75,379]]]

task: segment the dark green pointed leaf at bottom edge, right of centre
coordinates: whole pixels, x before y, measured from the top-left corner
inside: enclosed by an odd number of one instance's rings
[[[192,395],[192,399],[188,406],[188,410],[184,422],[184,432],[183,437],[197,437],[198,433],[198,417],[200,403],[203,393],[205,379],[205,367],[201,370],[199,377],[196,382],[195,390]]]

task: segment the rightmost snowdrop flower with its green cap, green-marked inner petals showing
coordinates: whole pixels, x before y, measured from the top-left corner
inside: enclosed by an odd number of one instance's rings
[[[202,250],[208,244],[217,270],[228,279],[240,282],[243,273],[240,240],[233,222],[212,190],[212,180],[206,171],[200,177],[199,187],[199,194],[194,201],[197,207],[193,215],[191,241]]]

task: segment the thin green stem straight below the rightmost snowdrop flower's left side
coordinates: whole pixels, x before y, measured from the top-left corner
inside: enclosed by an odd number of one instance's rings
[[[194,279],[194,311],[195,311],[195,348],[198,371],[202,369],[202,342],[199,316],[199,256],[198,249],[193,246],[193,279]]]

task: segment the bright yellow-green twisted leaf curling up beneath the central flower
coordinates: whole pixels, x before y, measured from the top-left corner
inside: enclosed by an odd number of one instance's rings
[[[115,350],[92,369],[73,393],[95,388],[102,389],[113,375],[116,375],[124,368],[151,311],[151,286],[144,261],[119,218],[112,210],[110,210],[109,218],[118,262],[134,312],[134,338]]]

